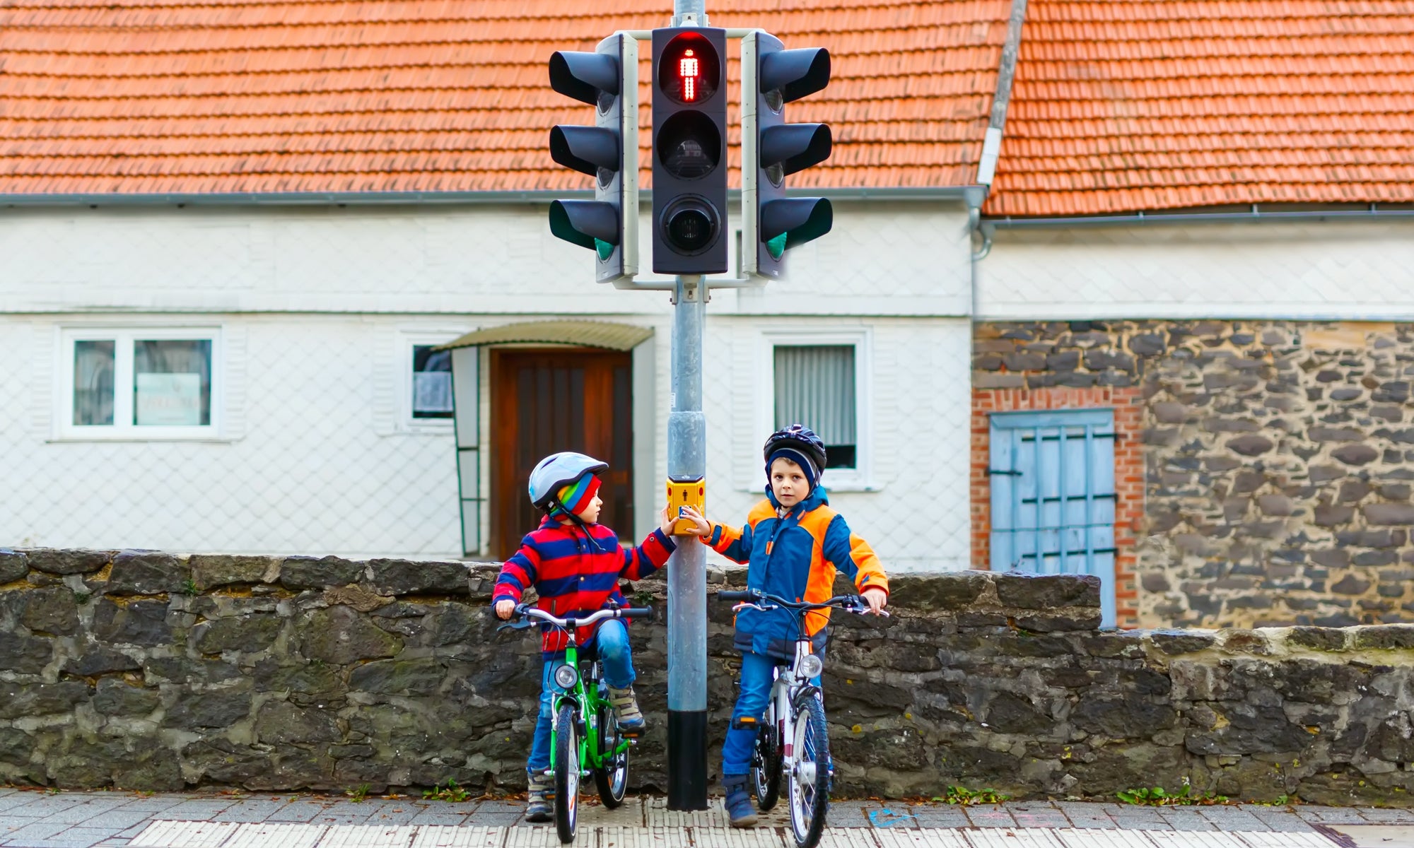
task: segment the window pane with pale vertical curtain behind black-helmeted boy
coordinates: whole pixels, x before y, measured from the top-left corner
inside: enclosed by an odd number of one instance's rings
[[[805,424],[824,441],[826,468],[857,468],[854,345],[778,345],[775,360],[775,430]]]

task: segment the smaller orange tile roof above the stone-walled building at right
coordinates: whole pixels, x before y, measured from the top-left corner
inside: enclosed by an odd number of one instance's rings
[[[990,215],[1414,201],[1414,1],[1031,0]]]

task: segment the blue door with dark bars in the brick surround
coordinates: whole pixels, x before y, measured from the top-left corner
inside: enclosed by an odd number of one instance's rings
[[[991,568],[1100,578],[1114,626],[1114,413],[991,416]]]

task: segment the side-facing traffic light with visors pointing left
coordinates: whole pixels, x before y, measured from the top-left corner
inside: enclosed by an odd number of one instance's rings
[[[594,177],[592,201],[550,204],[550,232],[594,250],[595,278],[638,273],[638,41],[609,35],[595,52],[556,51],[550,88],[594,106],[594,126],[550,129],[550,158]]]

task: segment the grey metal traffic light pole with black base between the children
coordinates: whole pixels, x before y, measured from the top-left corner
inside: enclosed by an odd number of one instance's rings
[[[707,281],[677,277],[667,478],[707,475],[703,414],[703,324]],[[707,550],[679,537],[667,564],[667,808],[707,808]]]

